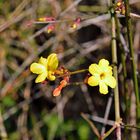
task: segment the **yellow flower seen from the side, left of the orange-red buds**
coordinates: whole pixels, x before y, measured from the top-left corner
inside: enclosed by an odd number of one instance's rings
[[[50,54],[47,58],[41,57],[38,63],[32,63],[30,71],[38,74],[35,83],[43,82],[46,78],[54,81],[54,72],[58,67],[58,58],[55,53]]]

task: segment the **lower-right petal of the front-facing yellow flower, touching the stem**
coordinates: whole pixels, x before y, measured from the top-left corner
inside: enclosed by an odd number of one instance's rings
[[[115,88],[116,86],[116,79],[113,76],[107,76],[104,82],[111,88]]]

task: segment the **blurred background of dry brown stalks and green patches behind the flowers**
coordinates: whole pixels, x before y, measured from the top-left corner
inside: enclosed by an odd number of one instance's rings
[[[0,134],[6,140],[97,140],[96,129],[103,134],[115,120],[113,92],[102,95],[98,87],[84,83],[87,73],[70,77],[70,85],[58,97],[53,90],[61,79],[35,84],[36,75],[29,66],[40,56],[57,53],[59,64],[70,71],[87,69],[101,58],[111,63],[111,22],[108,0],[0,0]],[[131,12],[140,14],[140,1],[130,1]],[[47,32],[47,24],[36,23],[40,17],[54,17],[59,22]],[[80,17],[76,29],[71,25]],[[121,52],[118,47],[118,73],[121,118],[136,124],[135,97],[130,58],[126,43],[124,17],[120,19],[126,55],[127,94]],[[138,76],[140,71],[140,20],[133,19],[134,51]],[[76,82],[79,82],[76,84]],[[131,103],[131,104],[130,104]],[[81,116],[96,126],[90,126]],[[110,120],[107,121],[107,120]],[[137,129],[125,130],[123,139],[131,139]],[[129,137],[129,138],[128,138]],[[113,132],[109,139],[115,139]]]

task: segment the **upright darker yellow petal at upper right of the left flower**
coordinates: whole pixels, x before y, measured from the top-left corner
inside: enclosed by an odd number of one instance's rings
[[[48,70],[54,71],[58,67],[58,58],[55,53],[52,53],[48,56]]]

